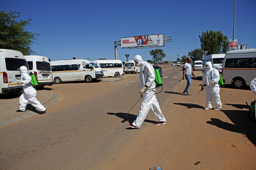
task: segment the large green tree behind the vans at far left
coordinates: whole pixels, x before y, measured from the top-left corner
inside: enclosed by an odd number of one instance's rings
[[[33,19],[18,18],[20,12],[0,10],[0,49],[17,50],[23,55],[35,54],[30,46],[40,34],[31,33],[25,28]]]

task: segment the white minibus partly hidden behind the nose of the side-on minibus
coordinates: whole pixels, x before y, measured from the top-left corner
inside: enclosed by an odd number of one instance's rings
[[[119,77],[124,75],[123,64],[121,60],[94,60],[92,61],[102,68],[104,76]]]

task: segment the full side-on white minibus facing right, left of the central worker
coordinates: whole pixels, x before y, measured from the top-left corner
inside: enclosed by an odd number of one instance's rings
[[[90,83],[92,80],[103,77],[102,69],[85,59],[51,61],[50,64],[55,84],[80,80]]]

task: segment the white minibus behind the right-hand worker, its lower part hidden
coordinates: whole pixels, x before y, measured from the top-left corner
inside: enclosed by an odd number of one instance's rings
[[[210,61],[212,62],[212,67],[222,72],[222,62],[226,54],[211,54],[206,55],[203,60],[203,72],[205,70],[205,63]]]

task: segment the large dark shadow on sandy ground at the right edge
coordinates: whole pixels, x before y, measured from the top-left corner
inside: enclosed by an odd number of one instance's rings
[[[246,136],[253,144],[256,146],[256,123],[250,121],[250,119],[246,116],[248,111],[244,110],[221,110],[224,114],[234,123],[224,122],[220,119],[211,118],[211,121],[207,121],[206,123],[210,125],[214,125],[221,129],[241,133]]]

